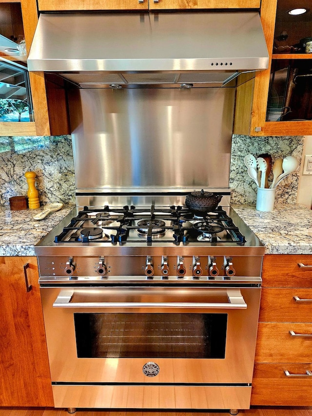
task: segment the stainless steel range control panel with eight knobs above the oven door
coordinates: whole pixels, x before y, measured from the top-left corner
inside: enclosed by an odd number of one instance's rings
[[[39,257],[41,277],[68,279],[214,279],[260,276],[261,256]]]

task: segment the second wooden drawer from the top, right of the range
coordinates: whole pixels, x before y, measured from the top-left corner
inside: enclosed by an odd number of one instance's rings
[[[312,322],[312,289],[262,288],[260,322]]]

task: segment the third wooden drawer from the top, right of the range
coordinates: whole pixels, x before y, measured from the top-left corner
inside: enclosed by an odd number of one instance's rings
[[[292,336],[307,334],[309,336]],[[312,362],[312,323],[258,324],[255,352],[257,362]]]

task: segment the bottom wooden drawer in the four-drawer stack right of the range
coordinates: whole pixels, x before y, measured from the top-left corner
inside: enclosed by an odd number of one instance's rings
[[[298,376],[286,376],[284,371]],[[312,364],[258,364],[254,365],[252,405],[311,406]],[[300,376],[299,376],[300,375]]]

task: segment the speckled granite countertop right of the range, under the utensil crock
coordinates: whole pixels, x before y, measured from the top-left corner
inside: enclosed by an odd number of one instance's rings
[[[271,212],[255,205],[233,205],[237,215],[266,247],[266,254],[312,255],[312,210],[298,204],[274,204]]]

